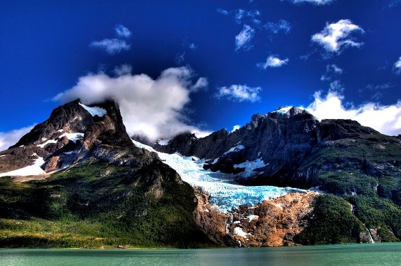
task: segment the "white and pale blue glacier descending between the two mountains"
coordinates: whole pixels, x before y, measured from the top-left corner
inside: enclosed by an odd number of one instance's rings
[[[238,185],[234,182],[233,174],[204,170],[202,167],[205,163],[204,159],[185,157],[178,153],[170,155],[158,152],[154,148],[135,140],[132,140],[132,142],[138,148],[145,148],[151,152],[156,152],[164,163],[180,174],[183,181],[208,194],[210,196],[210,203],[216,205],[219,211],[223,213],[238,208],[242,204],[253,206],[263,200],[278,198],[290,192],[306,191],[292,187]],[[261,165],[263,162],[258,163]]]

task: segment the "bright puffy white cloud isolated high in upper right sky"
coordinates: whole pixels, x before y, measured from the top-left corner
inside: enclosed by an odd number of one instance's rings
[[[360,47],[363,43],[356,42],[350,34],[363,29],[352,24],[349,19],[341,19],[337,23],[326,23],[326,27],[318,34],[312,36],[311,40],[323,46],[328,53],[339,53],[341,49],[352,46]]]

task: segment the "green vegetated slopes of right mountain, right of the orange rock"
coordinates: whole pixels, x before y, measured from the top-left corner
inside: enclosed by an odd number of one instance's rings
[[[398,171],[401,165],[400,158],[401,148],[398,139],[380,134],[361,135],[356,139],[339,139],[322,144],[308,157],[300,171],[313,172],[308,179],[308,185],[319,186],[320,189],[343,198],[343,202],[346,200],[352,204],[354,217],[367,228],[377,229],[381,241],[400,241],[401,172]],[[325,197],[329,197],[326,201],[330,201],[333,207],[330,209],[330,204],[324,205],[322,197],[317,200],[314,211],[315,222],[311,224],[311,228],[303,232],[302,240],[307,242],[306,234],[309,234],[311,243],[358,242],[360,237],[357,234],[350,235],[350,232],[340,239],[335,239],[334,242],[332,242],[334,238],[324,238],[330,228],[337,228],[335,223],[340,221],[339,218],[336,220],[335,215],[340,214],[339,207],[342,206],[339,200],[334,200],[335,196]],[[330,209],[328,213],[320,211],[324,210],[325,206]],[[348,211],[344,216],[348,217],[348,226],[351,221],[350,215]],[[325,233],[319,234],[319,230]],[[365,229],[361,230],[363,231]]]

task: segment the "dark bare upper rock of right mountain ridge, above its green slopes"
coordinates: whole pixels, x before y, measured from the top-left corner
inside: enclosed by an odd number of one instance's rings
[[[235,174],[236,181],[243,185],[307,188],[317,185],[312,176],[326,171],[324,168],[335,168],[332,163],[311,167],[313,155],[328,146],[346,145],[345,142],[357,144],[361,139],[372,145],[390,143],[397,145],[398,150],[401,148],[396,137],[382,135],[359,122],[319,122],[312,114],[296,107],[280,108],[267,115],[256,114],[250,123],[232,133],[221,129],[200,139],[185,133],[174,137],[167,145],[156,143],[154,148],[206,159],[206,170]],[[248,171],[247,163],[256,161],[256,167]],[[340,164],[339,168],[342,167]],[[378,171],[372,164],[370,168],[370,172]]]

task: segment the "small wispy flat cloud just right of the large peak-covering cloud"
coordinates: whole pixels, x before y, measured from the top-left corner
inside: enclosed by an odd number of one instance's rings
[[[260,91],[262,91],[262,88],[260,87],[251,88],[247,85],[233,84],[230,85],[230,87],[217,88],[215,98],[227,98],[229,101],[234,102],[249,101],[254,103],[260,100]]]

